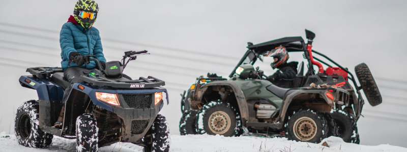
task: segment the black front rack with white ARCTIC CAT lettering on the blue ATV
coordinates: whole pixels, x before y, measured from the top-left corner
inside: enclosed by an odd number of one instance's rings
[[[128,80],[128,81],[112,80],[103,77],[90,78],[86,77],[85,75],[81,75],[80,79],[83,80],[84,82],[87,82],[95,86],[107,86],[113,88],[126,88],[126,89],[154,88],[165,85],[164,81],[154,78],[152,76],[149,76],[147,78],[140,77],[138,80]]]

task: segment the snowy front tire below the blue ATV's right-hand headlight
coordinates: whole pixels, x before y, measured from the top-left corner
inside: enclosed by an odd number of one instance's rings
[[[169,128],[165,117],[158,114],[153,125],[146,136],[142,138],[146,143],[143,152],[168,152],[171,139],[169,139]]]

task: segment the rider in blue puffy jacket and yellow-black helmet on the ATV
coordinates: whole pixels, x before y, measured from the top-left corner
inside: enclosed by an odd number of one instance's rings
[[[97,67],[95,61],[85,63],[84,55],[95,55],[96,59],[105,66],[106,59],[103,55],[102,43],[100,41],[99,30],[93,27],[99,11],[98,4],[93,0],[79,0],[75,4],[73,16],[62,26],[60,33],[61,64],[64,70],[64,77],[69,81],[70,86],[65,89],[63,104],[68,100],[68,95],[75,83],[82,82],[80,75],[89,74]],[[55,122],[54,127],[62,128],[64,119],[64,109]]]

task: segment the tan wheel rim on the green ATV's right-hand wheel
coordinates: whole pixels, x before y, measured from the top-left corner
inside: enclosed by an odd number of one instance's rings
[[[294,123],[293,131],[298,139],[302,141],[311,140],[317,132],[316,123],[309,117],[301,117]]]

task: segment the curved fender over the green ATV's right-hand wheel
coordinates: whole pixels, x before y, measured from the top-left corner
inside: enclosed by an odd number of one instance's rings
[[[287,92],[289,92],[289,91],[287,91]],[[319,94],[325,99],[325,101],[328,103],[328,105],[335,108],[335,102],[333,100],[329,99],[325,95],[325,93],[327,93],[327,92],[328,91],[326,89],[324,89],[324,90],[305,89],[305,90],[296,90],[296,91],[290,93],[289,95],[286,95],[285,99],[282,103],[282,106],[281,106],[282,108],[280,110],[280,122],[284,122],[288,107],[292,103],[293,99],[300,94]]]

